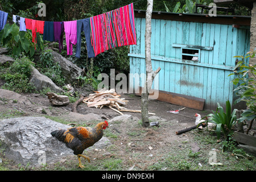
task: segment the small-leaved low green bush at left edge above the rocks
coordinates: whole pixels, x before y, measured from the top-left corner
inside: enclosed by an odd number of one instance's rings
[[[15,59],[5,73],[1,74],[1,78],[6,81],[2,89],[12,90],[14,92],[32,92],[35,89],[34,84],[29,82],[31,68],[34,63],[24,56]]]

